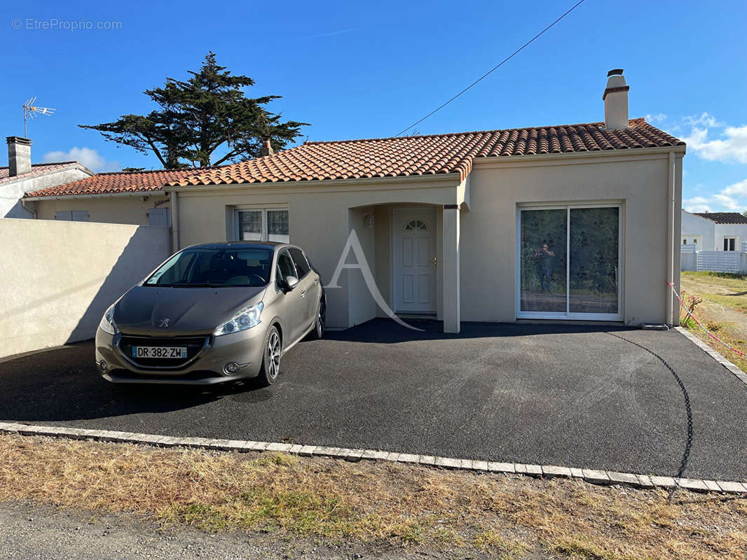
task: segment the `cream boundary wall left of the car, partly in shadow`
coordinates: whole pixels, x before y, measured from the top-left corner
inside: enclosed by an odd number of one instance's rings
[[[0,219],[0,243],[0,357],[93,337],[170,254],[169,229],[144,225]]]

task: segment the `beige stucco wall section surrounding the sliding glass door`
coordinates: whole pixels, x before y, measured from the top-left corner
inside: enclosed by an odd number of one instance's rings
[[[665,321],[666,296],[672,297],[666,286],[669,152],[641,152],[477,161],[471,173],[471,208],[462,213],[462,320],[515,319],[518,207],[619,202],[623,321]],[[680,150],[675,158],[678,201],[683,154]],[[679,203],[677,208],[674,227],[680,231]],[[675,249],[679,270],[679,247]],[[495,287],[494,297],[486,296],[486,280]]]

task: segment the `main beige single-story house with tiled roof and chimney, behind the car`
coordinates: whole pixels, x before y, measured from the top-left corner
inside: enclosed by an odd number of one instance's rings
[[[445,332],[463,320],[671,325],[685,145],[628,119],[628,90],[622,70],[611,71],[604,122],[306,142],[279,153],[266,143],[260,158],[162,188],[173,246],[303,246],[328,284],[332,328],[385,314],[362,270],[350,268],[359,265],[397,314],[438,317]],[[52,215],[44,197],[36,204]]]

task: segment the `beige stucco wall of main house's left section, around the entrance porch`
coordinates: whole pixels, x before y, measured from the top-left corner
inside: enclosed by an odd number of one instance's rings
[[[350,231],[355,229],[376,284],[382,295],[391,299],[388,287],[391,280],[385,264],[389,252],[388,228],[383,217],[394,206],[418,204],[433,205],[438,214],[443,205],[463,202],[461,183],[459,175],[450,174],[267,186],[167,187],[166,190],[179,193],[176,225],[180,248],[232,240],[234,208],[288,208],[291,243],[306,249],[325,282],[332,278]],[[382,222],[376,220],[373,228],[366,228],[363,220],[366,214],[373,214]],[[352,256],[350,262],[355,262]],[[358,270],[344,270],[339,286],[327,290],[330,327],[347,328],[376,317],[375,302]]]

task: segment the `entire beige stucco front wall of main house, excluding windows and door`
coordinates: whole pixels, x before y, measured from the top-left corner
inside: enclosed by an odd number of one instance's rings
[[[460,320],[517,320],[520,208],[619,203],[622,322],[671,324],[676,306],[666,279],[669,267],[680,267],[679,234],[674,239],[673,232],[680,231],[683,155],[684,146],[674,146],[479,158],[464,181],[454,173],[166,190],[176,193],[179,247],[234,239],[235,208],[288,208],[291,243],[306,249],[325,283],[355,229],[376,286],[390,307],[393,213],[397,208],[433,208],[436,314],[444,323],[456,321],[456,331]],[[374,218],[373,228],[365,226],[368,215]],[[326,290],[330,327],[347,328],[383,315],[359,270],[343,270],[338,285]],[[672,302],[669,307],[667,299]]]

